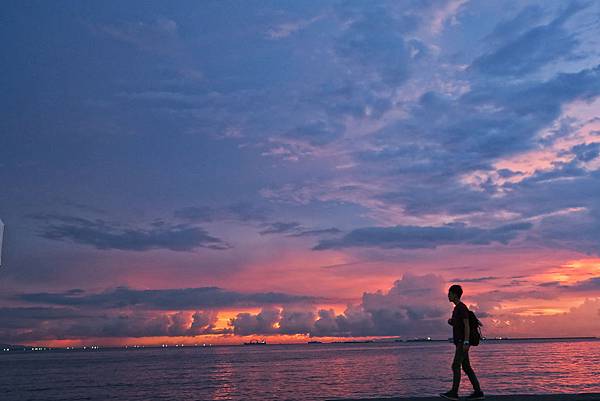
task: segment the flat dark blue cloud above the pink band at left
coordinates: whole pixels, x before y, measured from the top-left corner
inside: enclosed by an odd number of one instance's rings
[[[154,222],[148,228],[130,227],[104,220],[81,217],[36,215],[45,222],[40,236],[56,241],[72,241],[101,250],[148,251],[169,249],[192,251],[196,248],[223,250],[230,246],[206,230],[186,224],[169,225]]]

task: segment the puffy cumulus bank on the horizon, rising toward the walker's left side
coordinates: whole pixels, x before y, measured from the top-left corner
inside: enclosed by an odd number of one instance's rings
[[[311,336],[418,336],[440,333],[448,312],[445,281],[433,274],[405,274],[387,292],[364,293],[362,302],[336,315],[321,309],[263,309],[231,320],[236,334]]]

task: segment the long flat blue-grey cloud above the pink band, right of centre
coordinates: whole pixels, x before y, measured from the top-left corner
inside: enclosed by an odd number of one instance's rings
[[[529,230],[531,226],[531,223],[515,223],[484,229],[455,223],[441,227],[366,227],[353,230],[338,239],[322,240],[313,249],[349,247],[433,249],[442,245],[489,245],[493,242],[507,244],[520,232]]]

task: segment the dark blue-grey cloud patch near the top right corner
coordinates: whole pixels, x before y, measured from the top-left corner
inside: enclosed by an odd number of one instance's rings
[[[498,49],[479,57],[472,65],[485,74],[498,76],[522,76],[534,72],[551,61],[573,57],[579,44],[576,36],[564,28],[564,23],[587,5],[573,2],[546,25],[536,26],[518,37],[503,43]],[[527,8],[515,20],[503,23],[495,30],[495,36],[507,28],[522,26],[522,21],[532,21],[532,15],[540,10]]]

